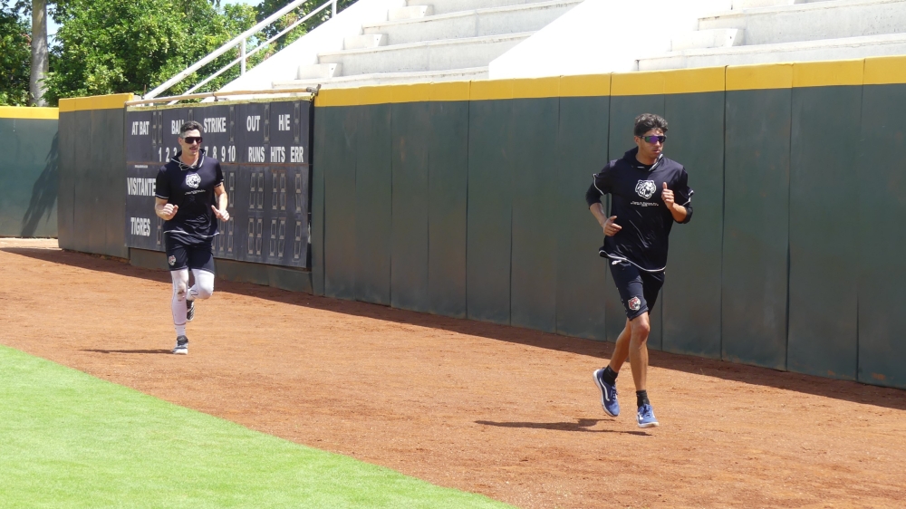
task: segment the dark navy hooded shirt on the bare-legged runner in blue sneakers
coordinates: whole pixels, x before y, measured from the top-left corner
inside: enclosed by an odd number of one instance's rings
[[[592,206],[601,203],[603,195],[611,195],[610,216],[617,216],[614,223],[622,226],[616,235],[604,237],[600,255],[625,260],[643,271],[660,272],[667,267],[668,237],[674,222],[660,197],[664,182],[673,191],[674,203],[686,207],[683,223],[692,218],[693,191],[686,169],[678,162],[661,155],[653,165],[643,165],[635,158],[638,152],[638,148],[631,149],[608,162],[593,176],[585,201]]]

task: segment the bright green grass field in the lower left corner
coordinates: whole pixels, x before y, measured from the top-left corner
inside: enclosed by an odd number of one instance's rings
[[[508,507],[0,346],[0,507]]]

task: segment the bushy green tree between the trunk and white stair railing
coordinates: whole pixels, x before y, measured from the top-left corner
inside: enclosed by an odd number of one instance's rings
[[[186,69],[255,24],[255,8],[209,0],[67,0],[46,80],[47,99],[141,94]],[[199,70],[207,77],[232,61],[228,52]],[[238,76],[238,65],[211,82],[217,89]],[[186,91],[198,76],[172,87]]]

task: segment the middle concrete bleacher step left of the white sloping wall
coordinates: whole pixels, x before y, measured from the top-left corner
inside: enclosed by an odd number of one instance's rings
[[[320,53],[321,63],[342,64],[342,74],[425,72],[487,66],[534,32],[392,44],[364,50]]]

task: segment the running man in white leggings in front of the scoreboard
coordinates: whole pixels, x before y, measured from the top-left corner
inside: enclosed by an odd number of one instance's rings
[[[170,310],[176,327],[173,353],[188,353],[186,322],[195,317],[195,302],[214,293],[214,235],[217,219],[229,220],[220,162],[201,149],[201,124],[179,128],[179,152],[160,167],[154,212],[164,219],[163,235],[173,280]],[[188,272],[195,284],[188,286]]]

